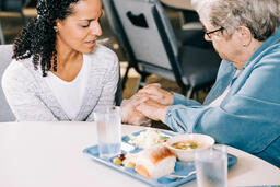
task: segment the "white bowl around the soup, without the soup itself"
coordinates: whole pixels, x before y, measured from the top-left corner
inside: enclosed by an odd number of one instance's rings
[[[176,149],[172,147],[173,143],[179,142],[179,141],[197,141],[199,143],[198,148],[195,149]],[[185,162],[191,162],[195,160],[195,151],[198,149],[208,149],[214,144],[214,139],[210,136],[202,135],[202,133],[184,133],[184,135],[177,135],[175,137],[170,138],[166,141],[166,147],[178,157],[180,161]]]

